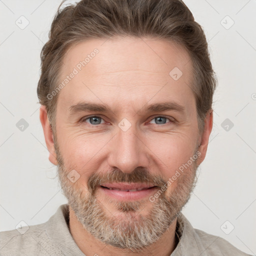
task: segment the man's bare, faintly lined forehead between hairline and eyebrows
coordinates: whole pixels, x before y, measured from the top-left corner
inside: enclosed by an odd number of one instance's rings
[[[58,95],[64,108],[86,100],[126,106],[135,101],[140,107],[159,98],[194,103],[192,61],[174,42],[135,37],[79,42],[63,58],[60,82],[71,73]]]

